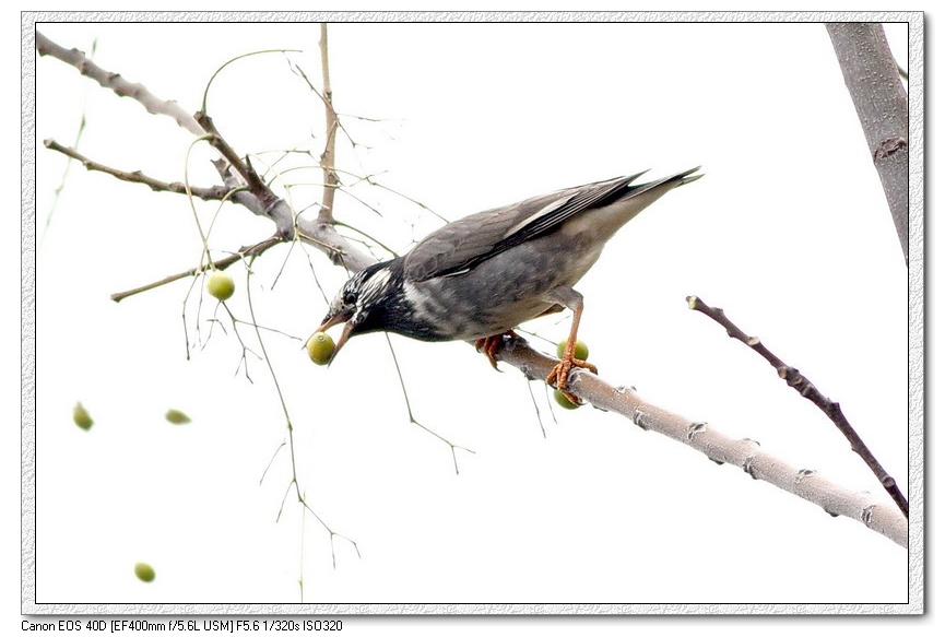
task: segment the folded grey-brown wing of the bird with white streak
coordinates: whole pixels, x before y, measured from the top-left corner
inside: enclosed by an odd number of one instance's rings
[[[487,210],[454,221],[422,239],[404,257],[404,274],[414,281],[461,274],[486,259],[539,237],[592,208],[638,194],[674,179],[685,182],[693,170],[630,187],[642,175],[577,186]]]

